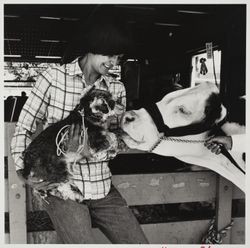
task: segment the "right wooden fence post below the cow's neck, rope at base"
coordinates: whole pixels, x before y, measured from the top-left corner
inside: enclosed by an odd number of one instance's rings
[[[225,228],[232,220],[233,185],[227,179],[217,176],[216,194],[216,227],[217,230]],[[227,230],[222,238],[222,244],[231,243],[231,230]]]

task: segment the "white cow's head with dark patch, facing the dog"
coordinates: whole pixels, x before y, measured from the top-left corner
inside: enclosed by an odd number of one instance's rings
[[[212,126],[226,115],[218,88],[209,82],[171,92],[156,105],[169,128],[196,123]],[[148,150],[160,136],[152,117],[144,108],[127,111],[121,119],[121,127],[125,132],[123,140],[130,148]]]

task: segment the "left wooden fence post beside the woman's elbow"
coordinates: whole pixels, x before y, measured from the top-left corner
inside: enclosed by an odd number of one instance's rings
[[[25,185],[17,177],[15,163],[10,154],[10,142],[15,123],[5,123],[5,142],[8,154],[9,225],[10,243],[26,244],[26,195]]]

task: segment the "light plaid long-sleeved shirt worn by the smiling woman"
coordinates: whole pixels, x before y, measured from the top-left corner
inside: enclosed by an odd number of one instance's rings
[[[96,88],[112,94],[118,115],[125,111],[126,92],[123,83],[111,76],[101,76],[94,84]],[[78,59],[63,66],[48,68],[41,74],[23,107],[11,141],[16,170],[24,166],[22,152],[31,143],[38,123],[42,122],[46,127],[66,118],[79,103],[86,86]],[[83,159],[73,168],[74,182],[85,199],[100,199],[108,194],[111,172],[107,157],[103,161]]]

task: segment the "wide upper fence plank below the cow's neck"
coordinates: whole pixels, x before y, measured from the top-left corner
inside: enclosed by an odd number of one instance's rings
[[[128,205],[212,201],[216,197],[216,174],[210,171],[115,175],[112,181]]]

